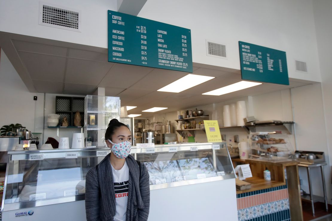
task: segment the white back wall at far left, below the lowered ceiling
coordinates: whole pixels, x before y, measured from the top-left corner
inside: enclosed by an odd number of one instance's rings
[[[2,50],[0,59],[0,126],[19,123],[35,133],[43,133],[45,126],[44,140],[42,135],[39,139],[41,144],[46,142],[48,137],[58,141],[60,137],[69,137],[69,143],[71,143],[72,134],[80,133],[80,129],[59,129],[59,137],[57,137],[56,129],[47,128],[46,121],[48,114],[55,113],[55,96],[78,96],[30,93]],[[37,101],[34,101],[34,96],[37,96]]]

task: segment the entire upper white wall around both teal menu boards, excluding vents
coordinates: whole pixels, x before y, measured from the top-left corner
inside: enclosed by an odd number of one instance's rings
[[[38,0],[1,1],[0,31],[107,48],[116,0],[45,1],[81,10],[82,32],[38,25]],[[138,16],[190,28],[193,62],[240,69],[241,40],[286,51],[290,78],[321,81],[311,0],[149,0]],[[206,56],[206,39],[225,44],[228,59]],[[308,74],[295,71],[295,59],[307,62]]]

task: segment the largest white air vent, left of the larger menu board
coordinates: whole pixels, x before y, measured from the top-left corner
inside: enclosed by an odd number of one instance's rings
[[[81,11],[40,2],[39,24],[81,32]]]

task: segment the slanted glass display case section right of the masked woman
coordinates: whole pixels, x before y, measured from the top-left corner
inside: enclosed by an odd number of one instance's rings
[[[226,143],[186,143],[136,148],[150,175],[150,190],[235,178]]]

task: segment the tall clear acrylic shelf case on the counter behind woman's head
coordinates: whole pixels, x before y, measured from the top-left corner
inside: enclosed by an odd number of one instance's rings
[[[84,102],[85,146],[104,147],[110,120],[120,120],[120,97],[87,95]]]

